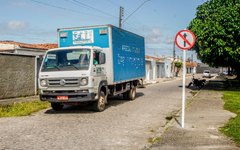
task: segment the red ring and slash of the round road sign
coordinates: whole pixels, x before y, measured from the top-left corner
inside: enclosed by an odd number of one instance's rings
[[[192,42],[191,43],[181,34],[182,32],[187,32],[187,33],[189,33],[191,35],[191,38],[192,38]],[[184,42],[187,43],[188,47],[183,47],[183,46],[179,45],[179,43],[178,43],[179,41],[177,41],[178,36],[180,36],[182,38],[182,40],[184,40]],[[192,31],[190,31],[190,30],[181,30],[175,36],[175,43],[176,43],[177,47],[179,47],[182,50],[189,50],[189,49],[191,49],[193,47],[193,45],[195,44],[195,41],[196,41],[196,37],[192,33]]]

